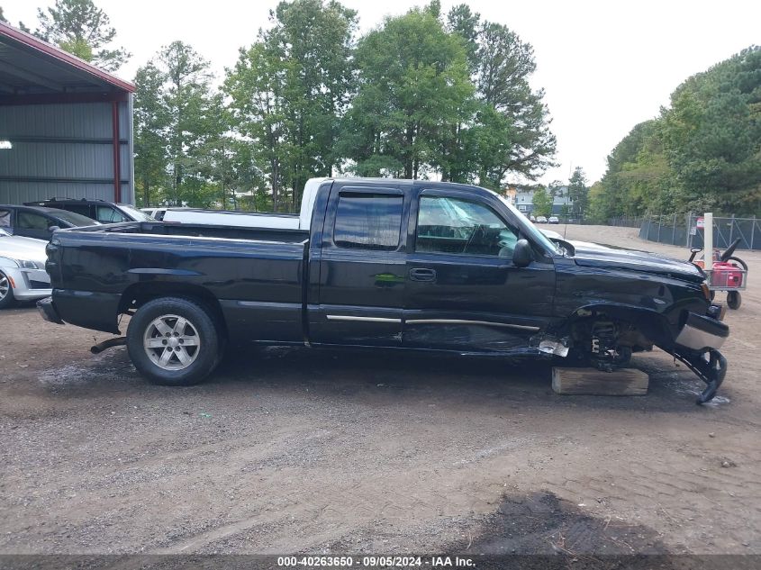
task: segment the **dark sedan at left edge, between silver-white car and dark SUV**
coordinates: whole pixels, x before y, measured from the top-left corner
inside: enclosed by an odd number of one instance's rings
[[[0,229],[14,236],[50,240],[54,230],[97,225],[78,213],[39,206],[0,205]]]

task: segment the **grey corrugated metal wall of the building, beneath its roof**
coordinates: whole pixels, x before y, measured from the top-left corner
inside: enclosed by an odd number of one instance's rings
[[[119,104],[122,203],[134,204],[131,101]],[[113,202],[111,103],[0,106],[0,204],[50,197]]]

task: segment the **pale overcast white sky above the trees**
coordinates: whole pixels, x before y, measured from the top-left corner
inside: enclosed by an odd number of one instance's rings
[[[446,14],[460,1],[442,0]],[[52,0],[0,0],[11,23],[37,23],[37,8]],[[131,79],[164,45],[182,40],[212,62],[217,78],[238,50],[267,27],[276,0],[95,0],[131,51],[117,75]],[[360,32],[425,2],[342,0],[358,11]],[[575,167],[590,183],[605,158],[639,122],[657,116],[687,77],[761,44],[761,2],[754,0],[530,0],[467,2],[483,19],[503,23],[534,48],[530,79],[545,90],[557,137],[558,167],[540,182],[566,182]],[[521,182],[515,180],[513,182]]]

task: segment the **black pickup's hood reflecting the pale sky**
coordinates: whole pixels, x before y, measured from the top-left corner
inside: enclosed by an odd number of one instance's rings
[[[705,279],[702,271],[689,261],[669,258],[639,249],[615,248],[584,241],[572,241],[571,244],[575,249],[574,260],[576,265],[582,267],[628,269],[674,277],[693,283],[701,283]]]

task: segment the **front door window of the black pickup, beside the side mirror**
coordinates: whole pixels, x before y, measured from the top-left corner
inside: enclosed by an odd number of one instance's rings
[[[484,204],[446,196],[421,196],[415,250],[512,258],[518,238]]]

